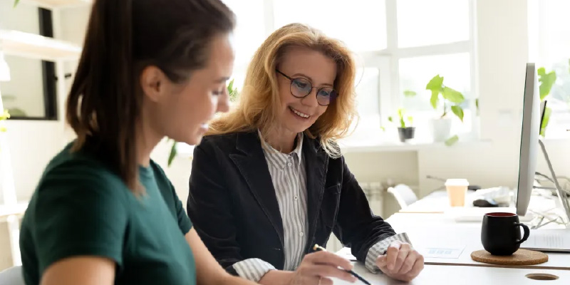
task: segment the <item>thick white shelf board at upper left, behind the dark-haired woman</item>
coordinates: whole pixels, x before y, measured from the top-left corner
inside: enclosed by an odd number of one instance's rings
[[[33,33],[0,30],[1,48],[7,55],[38,58],[47,61],[74,60],[81,46]]]

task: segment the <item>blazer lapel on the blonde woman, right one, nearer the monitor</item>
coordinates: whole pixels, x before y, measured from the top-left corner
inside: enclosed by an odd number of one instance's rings
[[[303,155],[305,155],[305,167],[307,177],[307,222],[309,223],[309,241],[305,252],[309,253],[312,238],[315,236],[318,212],[321,209],[323,192],[325,190],[326,170],[328,169],[328,155],[321,147],[316,146],[315,140],[305,136],[303,140]]]

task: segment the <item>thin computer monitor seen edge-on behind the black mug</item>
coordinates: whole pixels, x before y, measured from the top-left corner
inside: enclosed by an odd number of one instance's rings
[[[521,147],[519,155],[519,182],[517,186],[517,214],[527,214],[534,172],[537,168],[541,112],[539,84],[534,63],[527,63],[527,75],[524,78],[524,103],[522,107]],[[543,106],[544,108],[544,106]]]

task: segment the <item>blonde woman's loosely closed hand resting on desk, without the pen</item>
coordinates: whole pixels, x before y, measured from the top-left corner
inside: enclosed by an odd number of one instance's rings
[[[400,281],[412,281],[423,269],[423,256],[410,244],[395,241],[386,254],[376,259],[376,265],[384,274]]]

